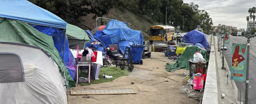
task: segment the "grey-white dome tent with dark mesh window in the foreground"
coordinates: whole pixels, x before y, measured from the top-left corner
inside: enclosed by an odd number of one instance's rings
[[[56,62],[42,48],[0,42],[0,102],[67,104],[66,85]]]

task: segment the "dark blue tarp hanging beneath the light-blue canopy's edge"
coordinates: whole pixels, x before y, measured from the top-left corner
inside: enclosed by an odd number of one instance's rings
[[[42,26],[42,25],[32,25],[32,27],[34,27],[35,29],[37,29],[38,31],[46,35],[49,35],[49,36],[54,35],[53,36],[54,46],[59,51],[61,59],[63,59],[63,45],[64,45],[65,30],[61,28],[48,27],[48,26]],[[71,75],[72,79],[74,80],[76,75],[76,63],[75,63],[75,58],[68,46],[69,46],[68,38],[66,36],[64,63],[66,68],[68,69],[68,73]]]

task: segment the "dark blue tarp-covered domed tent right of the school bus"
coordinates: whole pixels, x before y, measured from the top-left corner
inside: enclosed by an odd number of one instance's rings
[[[183,36],[182,41],[194,45],[196,43],[200,43],[206,50],[210,49],[210,45],[206,38],[206,35],[198,30],[189,31],[186,35]]]

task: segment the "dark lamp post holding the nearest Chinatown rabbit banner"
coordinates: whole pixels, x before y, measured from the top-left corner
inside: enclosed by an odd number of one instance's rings
[[[251,29],[248,28],[247,34],[247,54],[246,54],[246,76],[245,76],[245,104],[248,104],[248,93],[249,93],[249,56],[250,56],[250,38],[251,38]]]

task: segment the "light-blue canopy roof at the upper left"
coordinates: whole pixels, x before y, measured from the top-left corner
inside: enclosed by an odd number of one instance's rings
[[[57,28],[67,26],[60,17],[27,0],[1,0],[0,10],[0,18]]]

